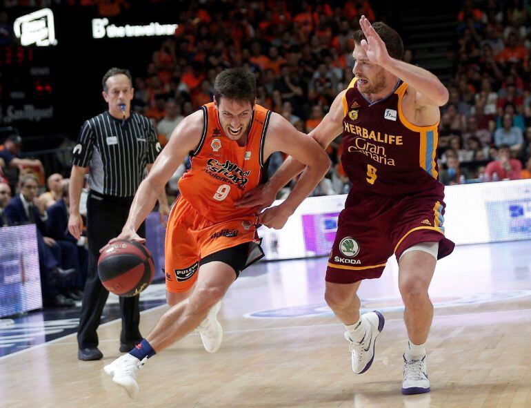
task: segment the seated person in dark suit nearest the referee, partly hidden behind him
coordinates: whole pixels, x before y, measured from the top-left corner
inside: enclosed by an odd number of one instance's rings
[[[87,280],[88,252],[84,246],[77,245],[76,238],[68,231],[68,182],[63,184],[58,198],[59,200],[46,210],[46,230],[48,236],[61,246],[63,266],[72,265],[77,270],[77,275],[68,284],[66,293],[74,300],[81,300]]]

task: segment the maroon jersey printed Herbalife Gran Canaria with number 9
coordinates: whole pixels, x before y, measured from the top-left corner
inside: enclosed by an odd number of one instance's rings
[[[353,191],[405,195],[432,190],[443,195],[437,166],[437,128],[415,126],[402,113],[408,84],[399,81],[394,92],[370,102],[354,78],[343,97],[341,164]]]

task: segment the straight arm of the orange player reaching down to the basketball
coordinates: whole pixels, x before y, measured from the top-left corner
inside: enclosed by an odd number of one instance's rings
[[[204,119],[203,111],[186,117],[175,128],[170,138],[170,142],[161,151],[148,173],[148,177],[141,182],[134,200],[131,204],[129,217],[123,226],[122,233],[110,240],[134,240],[143,242],[135,231],[146,220],[148,214],[153,209],[155,202],[166,183],[177,170],[179,164],[183,162],[186,155],[197,148],[201,135],[203,134]]]

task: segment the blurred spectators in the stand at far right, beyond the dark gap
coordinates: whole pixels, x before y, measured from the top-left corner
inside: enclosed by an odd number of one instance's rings
[[[531,178],[530,18],[527,1],[463,3],[441,112],[444,184]]]

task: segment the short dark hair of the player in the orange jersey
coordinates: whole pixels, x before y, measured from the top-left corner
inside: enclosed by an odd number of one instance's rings
[[[249,101],[254,106],[257,97],[257,79],[246,68],[230,68],[221,71],[214,81],[214,97],[217,103],[221,98],[235,101]]]

